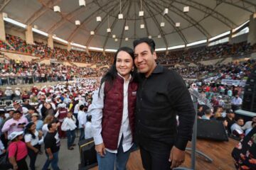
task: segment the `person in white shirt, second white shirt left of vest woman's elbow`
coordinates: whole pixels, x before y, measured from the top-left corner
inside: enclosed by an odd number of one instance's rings
[[[85,113],[85,106],[81,105],[79,106],[78,111],[78,123],[79,123],[79,129],[80,129],[80,137],[79,140],[85,139],[85,123],[86,123],[86,113]]]

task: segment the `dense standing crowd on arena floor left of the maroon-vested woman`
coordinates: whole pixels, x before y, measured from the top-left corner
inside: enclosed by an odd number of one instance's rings
[[[73,150],[75,129],[80,129],[80,140],[92,137],[92,117],[87,108],[92,103],[97,81],[87,78],[41,89],[33,86],[26,91],[26,97],[11,96],[10,100],[22,99],[23,102],[14,101],[10,105],[13,107],[0,110],[0,155],[6,153],[9,143],[9,158],[14,169],[28,169],[26,156],[30,159],[30,169],[36,169],[36,157],[44,143],[46,163],[43,169],[48,169],[50,164],[58,169],[61,138],[68,137],[67,149]]]

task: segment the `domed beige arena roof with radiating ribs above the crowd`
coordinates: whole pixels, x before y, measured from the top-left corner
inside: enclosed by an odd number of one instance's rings
[[[87,47],[132,47],[135,38],[151,37],[166,48],[206,40],[237,28],[256,11],[255,0],[0,0],[0,11],[26,25]],[[54,12],[59,6],[60,12]],[[188,12],[183,7],[189,6]],[[168,13],[164,15],[164,9]],[[144,16],[139,16],[144,11]],[[123,19],[118,14],[123,14]],[[96,17],[102,18],[101,22]],[[80,25],[75,25],[75,21]],[[161,27],[164,22],[164,27]],[[181,26],[176,27],[176,23]],[[144,28],[140,25],[144,24]],[[124,30],[129,26],[129,30]],[[111,33],[107,33],[111,28]],[[91,31],[95,35],[90,35]],[[116,35],[115,38],[112,38]],[[161,36],[161,38],[159,38]],[[128,38],[128,40],[125,40]]]

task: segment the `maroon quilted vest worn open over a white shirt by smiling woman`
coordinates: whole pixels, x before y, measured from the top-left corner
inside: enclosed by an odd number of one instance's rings
[[[119,132],[122,124],[122,113],[124,106],[124,79],[117,76],[113,86],[105,81],[105,98],[102,115],[102,138],[107,149],[117,149]],[[128,85],[128,117],[129,125],[134,136],[135,103],[137,83],[130,81]]]

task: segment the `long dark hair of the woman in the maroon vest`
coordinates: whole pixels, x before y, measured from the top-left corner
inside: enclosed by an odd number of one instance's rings
[[[117,68],[116,68],[116,63],[117,63],[117,54],[120,51],[124,51],[127,52],[131,57],[132,60],[134,62],[134,50],[132,50],[132,48],[130,47],[120,47],[117,52],[114,55],[114,63],[112,64],[112,66],[110,67],[109,71],[102,77],[101,81],[100,81],[100,89],[102,87],[102,84],[107,81],[110,84],[110,89],[113,86],[113,81],[115,79],[117,79]],[[133,81],[137,81],[137,68],[134,66],[134,69],[131,72],[132,75],[132,79]],[[110,91],[110,89],[107,89],[107,91]],[[100,91],[100,90],[99,90]],[[100,96],[100,93],[99,93]]]

